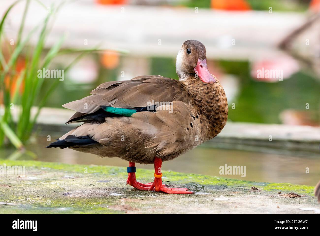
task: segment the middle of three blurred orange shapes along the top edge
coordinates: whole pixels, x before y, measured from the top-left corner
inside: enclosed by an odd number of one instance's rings
[[[211,8],[225,11],[248,11],[250,5],[245,0],[211,0]]]

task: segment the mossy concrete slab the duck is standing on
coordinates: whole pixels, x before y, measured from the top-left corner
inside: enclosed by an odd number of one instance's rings
[[[165,184],[195,192],[169,195],[126,186],[123,167],[0,159],[4,165],[25,166],[26,173],[0,175],[0,214],[320,212],[311,186],[163,171]],[[153,178],[151,170],[136,174],[140,182]],[[287,197],[290,192],[301,197]]]

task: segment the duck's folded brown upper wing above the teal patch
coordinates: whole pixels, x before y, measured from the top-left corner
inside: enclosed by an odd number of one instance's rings
[[[90,93],[92,95],[88,97],[63,105],[77,111],[70,120],[92,114],[101,106],[143,108],[153,101],[187,101],[189,97],[183,84],[160,75],[143,75],[132,80],[102,83]]]

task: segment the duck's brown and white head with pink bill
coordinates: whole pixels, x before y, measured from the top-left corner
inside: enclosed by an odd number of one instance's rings
[[[180,80],[198,75],[203,83],[216,82],[207,68],[205,47],[197,40],[187,40],[183,43],[177,55],[176,71]]]

